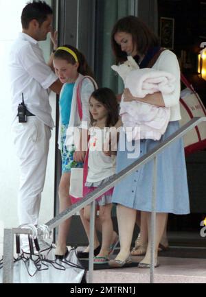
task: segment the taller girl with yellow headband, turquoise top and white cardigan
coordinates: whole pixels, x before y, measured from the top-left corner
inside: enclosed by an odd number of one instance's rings
[[[78,127],[84,129],[83,122],[87,122],[87,126],[89,127],[89,98],[95,90],[95,82],[90,78],[82,80],[85,75],[93,78],[93,73],[84,56],[78,49],[71,45],[64,45],[56,49],[53,64],[56,75],[63,84],[60,93],[60,131],[58,141],[62,157],[62,176],[58,188],[61,212],[71,206],[71,199],[69,197],[71,167],[82,167],[86,154],[86,152],[82,151],[81,140],[79,147],[75,147],[71,141],[68,144],[66,136],[69,134],[68,130],[70,128]],[[77,90],[80,82],[82,82],[80,91],[82,120],[80,119],[77,103]],[[84,220],[83,217],[82,220]],[[57,259],[67,257],[66,240],[69,233],[70,221],[71,219],[67,219],[67,221],[59,226],[55,251]],[[96,246],[99,246],[99,244],[97,241]]]

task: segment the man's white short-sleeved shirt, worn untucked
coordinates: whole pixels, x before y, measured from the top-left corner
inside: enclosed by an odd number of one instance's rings
[[[20,33],[10,51],[9,67],[14,118],[17,115],[18,105],[22,102],[23,93],[27,110],[53,128],[49,86],[58,78],[45,63],[38,41]]]

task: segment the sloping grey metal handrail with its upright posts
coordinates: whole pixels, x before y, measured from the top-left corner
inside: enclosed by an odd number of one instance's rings
[[[90,249],[89,249],[89,283],[93,283],[93,231],[94,231],[94,222],[95,222],[95,199],[102,195],[105,191],[108,191],[112,187],[114,187],[117,182],[125,178],[128,174],[132,174],[134,171],[139,169],[145,163],[148,163],[153,158],[155,158],[155,166],[154,166],[154,176],[153,176],[153,197],[152,197],[152,218],[151,218],[151,265],[150,265],[150,283],[154,282],[154,269],[155,269],[155,204],[156,204],[156,174],[155,171],[157,169],[157,154],[159,154],[162,150],[165,149],[168,145],[170,145],[176,139],[181,138],[184,136],[188,131],[192,130],[198,123],[202,121],[206,121],[206,117],[194,117],[190,121],[188,121],[184,126],[179,128],[176,132],[170,135],[165,141],[157,145],[153,150],[141,156],[137,161],[133,164],[129,165],[125,169],[119,172],[119,174],[115,174],[113,178],[105,182],[104,185],[98,187],[93,192],[89,193],[85,198],[81,201],[73,204],[65,211],[62,211],[56,217],[51,219],[49,222],[46,223],[49,230],[53,230],[56,226],[64,222],[66,219],[69,219],[72,215],[80,211],[82,208],[91,204],[91,224],[90,224]],[[12,232],[11,232],[12,230]],[[23,234],[32,234],[31,230],[21,229],[21,228],[12,228],[12,229],[4,229],[4,241],[3,241],[3,283],[12,283],[12,248],[13,248],[13,235],[16,233],[23,233]]]

